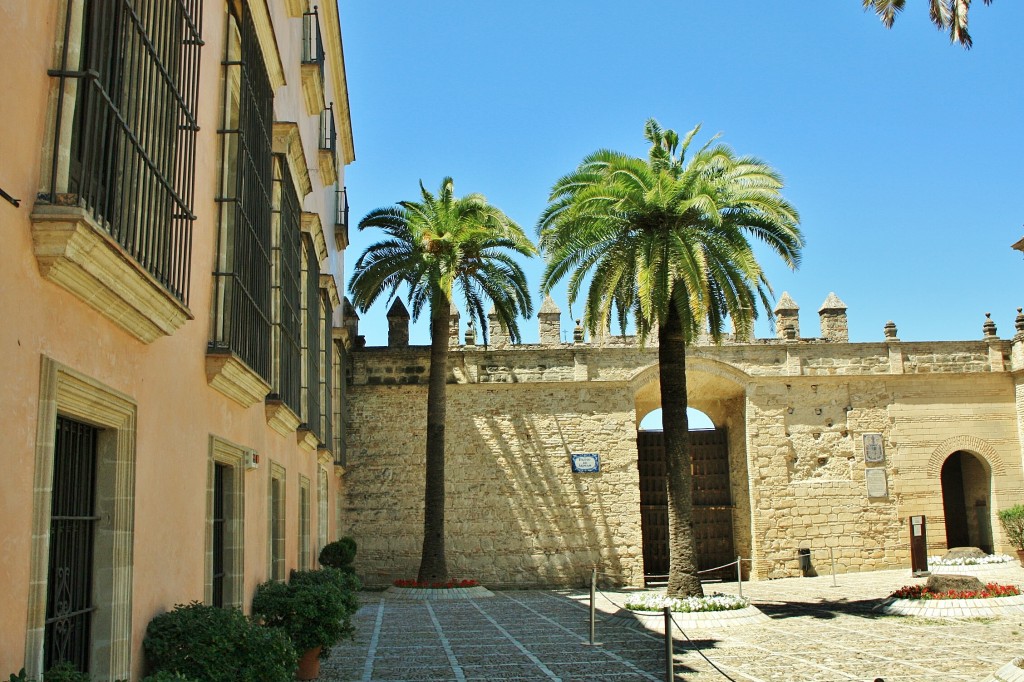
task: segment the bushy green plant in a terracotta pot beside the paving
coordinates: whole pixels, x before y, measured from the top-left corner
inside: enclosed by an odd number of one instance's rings
[[[300,680],[319,677],[319,659],[331,646],[353,632],[359,584],[335,568],[293,570],[288,583],[269,581],[256,588],[253,616],[288,633],[299,653]]]

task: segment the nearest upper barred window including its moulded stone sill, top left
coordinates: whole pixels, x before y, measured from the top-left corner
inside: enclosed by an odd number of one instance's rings
[[[191,316],[202,2],[63,5],[40,272],[148,343]]]

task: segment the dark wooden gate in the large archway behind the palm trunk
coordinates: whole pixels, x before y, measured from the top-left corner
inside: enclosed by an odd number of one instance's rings
[[[648,582],[669,574],[669,499],[666,491],[665,435],[637,433],[640,469],[640,527],[643,536],[643,572]],[[729,449],[725,429],[690,431],[693,472],[693,535],[697,569],[735,561],[732,544],[732,499],[729,492]],[[731,572],[730,572],[731,571]],[[735,576],[735,568],[722,577]],[[703,573],[701,578],[716,578]]]

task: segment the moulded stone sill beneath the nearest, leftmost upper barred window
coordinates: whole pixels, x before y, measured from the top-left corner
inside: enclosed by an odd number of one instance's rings
[[[39,273],[143,343],[170,336],[191,311],[75,206],[37,205],[32,245]]]

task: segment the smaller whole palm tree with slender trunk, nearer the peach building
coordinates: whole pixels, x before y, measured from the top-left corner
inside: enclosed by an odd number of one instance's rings
[[[526,278],[512,253],[532,256],[537,249],[522,228],[482,195],[458,198],[451,177],[434,196],[420,183],[421,200],[371,211],[359,229],[379,227],[387,238],[359,256],[348,289],[352,303],[366,311],[382,295],[388,301],[409,288],[412,316],[430,310],[430,375],[427,388],[426,485],[423,496],[423,555],[418,580],[445,582],[444,413],[446,400],[449,310],[456,290],[470,321],[480,323],[486,344],[484,302],[490,300],[513,341],[517,317],[532,313]]]

